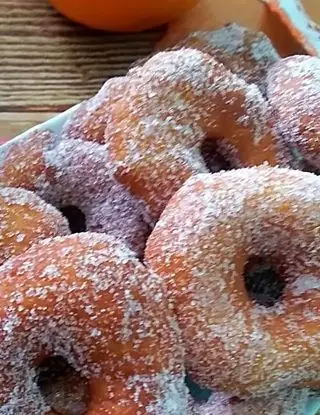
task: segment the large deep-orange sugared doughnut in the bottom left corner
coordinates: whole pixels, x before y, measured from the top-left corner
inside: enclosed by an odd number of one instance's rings
[[[0,285],[1,414],[47,413],[35,362],[52,354],[88,379],[87,415],[189,413],[162,281],[114,238],[43,241],[2,266]]]

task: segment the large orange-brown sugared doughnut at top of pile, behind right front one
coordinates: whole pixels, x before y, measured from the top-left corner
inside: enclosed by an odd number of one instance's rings
[[[228,140],[233,166],[279,162],[268,103],[213,57],[162,52],[129,76],[109,106],[105,139],[118,180],[155,217],[186,178],[207,171],[200,147],[208,136]]]

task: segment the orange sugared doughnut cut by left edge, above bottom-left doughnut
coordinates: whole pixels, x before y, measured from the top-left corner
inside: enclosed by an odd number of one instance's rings
[[[34,193],[0,187],[0,265],[41,239],[68,233],[61,213]]]

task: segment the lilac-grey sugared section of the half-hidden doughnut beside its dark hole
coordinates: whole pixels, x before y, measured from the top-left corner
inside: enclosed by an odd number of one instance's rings
[[[117,236],[141,256],[153,222],[146,205],[115,179],[106,147],[62,141],[44,156],[50,172],[44,197],[55,205],[77,206],[88,231]]]

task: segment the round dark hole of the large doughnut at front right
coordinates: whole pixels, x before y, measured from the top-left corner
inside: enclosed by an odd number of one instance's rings
[[[244,281],[249,297],[265,307],[274,306],[285,288],[277,267],[261,257],[249,259],[244,269]]]

